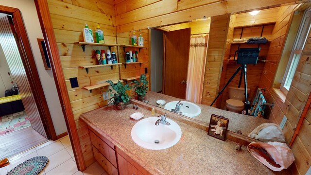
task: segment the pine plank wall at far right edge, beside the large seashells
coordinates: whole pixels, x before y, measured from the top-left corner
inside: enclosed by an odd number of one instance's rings
[[[285,101],[285,115],[288,123],[296,128],[302,110],[311,93],[311,32],[299,60],[294,79]],[[295,156],[295,168],[305,175],[311,166],[311,106],[296,137],[292,150]],[[294,171],[295,172],[295,171]],[[294,173],[297,174],[298,173]]]

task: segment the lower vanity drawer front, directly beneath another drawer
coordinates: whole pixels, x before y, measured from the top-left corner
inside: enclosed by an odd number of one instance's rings
[[[96,161],[104,168],[109,175],[118,175],[118,170],[113,166],[94,146],[93,153]]]

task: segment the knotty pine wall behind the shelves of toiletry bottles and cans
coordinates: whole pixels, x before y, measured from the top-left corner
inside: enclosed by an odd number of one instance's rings
[[[79,119],[82,113],[97,109],[107,105],[103,100],[102,92],[109,87],[93,89],[92,93],[83,87],[104,83],[106,80],[119,80],[133,76],[139,76],[148,69],[149,64],[114,66],[90,68],[86,73],[85,69],[79,69],[79,66],[95,65],[95,50],[107,50],[108,47],[86,46],[85,53],[80,45],[74,42],[83,42],[82,29],[85,23],[95,33],[95,28],[99,23],[104,31],[104,40],[107,44],[130,44],[130,32],[117,34],[115,27],[115,9],[114,0],[48,0],[49,9],[52,18],[53,29],[59,50],[59,55],[63,67],[69,99],[74,114],[74,120],[78,130],[79,140],[86,166],[95,161],[92,152],[90,137],[86,123]],[[136,35],[142,34],[144,37],[144,46],[149,45],[149,31],[138,31]],[[95,36],[95,35],[94,35]],[[95,37],[94,37],[95,38]],[[130,50],[129,48],[126,49]],[[135,51],[132,49],[132,51]],[[115,52],[119,62],[125,62],[124,53],[121,47],[112,47],[111,52]],[[141,49],[138,53],[139,61],[148,61],[148,49]],[[71,88],[69,78],[77,77],[78,88]]]

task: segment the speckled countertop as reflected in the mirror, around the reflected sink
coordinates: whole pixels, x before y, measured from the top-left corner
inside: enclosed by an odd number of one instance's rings
[[[148,104],[150,105],[155,105],[156,101],[162,99],[165,100],[166,103],[172,102],[172,101],[179,101],[182,99],[175,98],[172,96],[168,96],[165,94],[160,94],[152,91],[148,91],[146,94],[146,100],[149,101]],[[183,100],[186,101],[186,100]],[[210,107],[207,105],[202,105],[202,104],[196,104],[201,108],[201,114],[193,117],[193,119],[204,122],[204,123],[209,123],[210,121],[210,115],[211,114],[216,114],[216,115],[221,115],[224,116],[225,118],[230,119],[229,120],[229,126],[228,130],[232,132],[237,132],[238,130],[242,131],[242,134],[247,136],[250,132],[252,132],[257,126],[259,126],[262,123],[272,123],[271,121],[263,118],[258,118],[258,117],[252,117],[252,116],[246,116],[230,111],[225,111],[222,109],[218,109],[216,107]],[[164,108],[164,105],[163,107]]]

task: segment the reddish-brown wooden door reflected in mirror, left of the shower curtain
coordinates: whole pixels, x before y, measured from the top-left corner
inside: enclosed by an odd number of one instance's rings
[[[186,99],[191,28],[166,32],[164,94]]]

